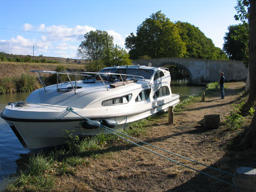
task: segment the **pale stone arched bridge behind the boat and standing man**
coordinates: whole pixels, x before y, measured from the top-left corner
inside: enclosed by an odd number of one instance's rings
[[[208,60],[208,59],[186,59],[186,58],[158,58],[134,60],[133,63],[147,66],[152,63],[154,67],[180,66],[184,68],[189,76],[190,82],[218,81],[219,73],[223,71],[227,81],[247,78],[248,68],[243,61],[231,60]]]

